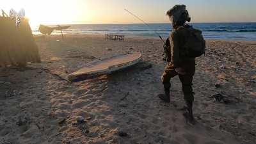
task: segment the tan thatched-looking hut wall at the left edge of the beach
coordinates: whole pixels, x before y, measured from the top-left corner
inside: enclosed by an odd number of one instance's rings
[[[40,62],[28,20],[23,19],[16,28],[15,19],[0,16],[0,67],[28,62]]]

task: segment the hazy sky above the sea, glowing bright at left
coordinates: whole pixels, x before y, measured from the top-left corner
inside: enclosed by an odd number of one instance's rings
[[[124,9],[148,23],[169,22],[166,12],[186,4],[191,22],[256,22],[255,0],[0,0],[6,13],[24,8],[31,24],[141,23]]]

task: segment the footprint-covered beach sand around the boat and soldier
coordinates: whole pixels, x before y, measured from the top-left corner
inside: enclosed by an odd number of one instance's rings
[[[0,69],[0,144],[256,143],[256,42],[207,40],[193,81],[196,125],[182,116],[179,77],[161,102],[161,41],[103,35],[35,36],[42,63]],[[85,81],[67,74],[86,63],[140,51],[138,65]],[[216,86],[218,88],[216,88]],[[225,102],[212,95],[220,93]],[[84,123],[78,124],[77,116]]]

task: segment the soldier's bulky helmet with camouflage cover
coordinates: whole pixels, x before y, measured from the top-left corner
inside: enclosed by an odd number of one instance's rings
[[[186,5],[184,4],[177,4],[173,6],[168,12],[166,13],[169,17],[172,17],[173,21],[188,21],[190,22],[191,18],[189,17],[188,10],[186,10]]]

